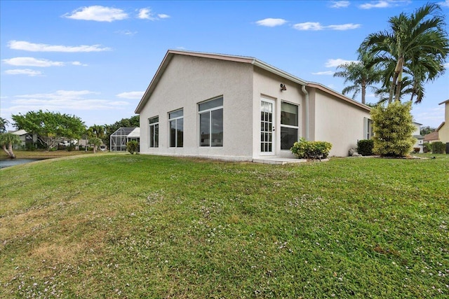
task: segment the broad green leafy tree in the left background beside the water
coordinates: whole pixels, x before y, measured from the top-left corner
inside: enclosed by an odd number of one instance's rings
[[[37,134],[39,142],[45,145],[48,151],[64,139],[79,139],[86,131],[81,118],[59,112],[29,111],[25,115],[13,115],[12,118],[18,129]]]

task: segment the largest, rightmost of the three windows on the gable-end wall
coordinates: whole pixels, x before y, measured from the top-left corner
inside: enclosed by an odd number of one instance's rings
[[[223,98],[198,105],[200,146],[223,146]]]

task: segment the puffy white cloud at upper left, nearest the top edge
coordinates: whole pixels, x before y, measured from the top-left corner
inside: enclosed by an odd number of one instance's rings
[[[63,17],[74,20],[114,22],[127,19],[128,13],[125,13],[120,8],[85,6],[72,11],[72,14],[66,13]]]

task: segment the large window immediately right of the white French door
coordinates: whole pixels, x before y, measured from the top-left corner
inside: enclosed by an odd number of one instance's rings
[[[298,106],[281,102],[281,150],[289,150],[298,139]]]

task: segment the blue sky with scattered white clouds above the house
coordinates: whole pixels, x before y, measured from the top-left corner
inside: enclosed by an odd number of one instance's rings
[[[449,0],[435,2],[449,15]],[[1,0],[0,115],[59,111],[88,126],[129,118],[168,49],[256,57],[341,92],[336,66],[425,3]],[[415,121],[438,127],[446,99],[449,71],[426,85]]]

